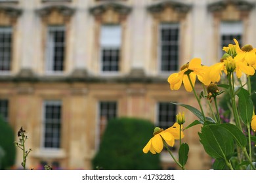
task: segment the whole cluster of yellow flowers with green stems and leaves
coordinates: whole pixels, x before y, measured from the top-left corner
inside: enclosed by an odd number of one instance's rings
[[[172,73],[167,81],[171,90],[179,90],[183,84],[187,92],[194,92],[200,110],[190,105],[175,105],[187,108],[198,117],[198,120],[189,124],[185,129],[198,124],[202,125],[198,135],[205,152],[215,159],[214,169],[256,169],[256,162],[254,162],[256,157],[253,157],[255,153],[251,148],[251,144],[256,142],[256,136],[253,134],[253,131],[256,131],[256,117],[251,99],[250,80],[250,76],[255,75],[256,48],[250,44],[240,48],[238,41],[234,39],[234,44],[224,46],[223,50],[225,53],[218,63],[207,66],[202,65],[200,58],[193,58],[182,65],[178,73]],[[245,84],[242,84],[240,79],[242,75],[247,76]],[[228,79],[228,84],[219,85],[224,76]],[[203,86],[200,95],[194,88],[197,79]],[[238,80],[240,84],[235,84],[235,80]],[[219,87],[224,88],[225,91],[219,90]],[[228,93],[228,103],[230,102],[228,105],[232,110],[230,112],[232,119],[226,120],[223,112],[219,110],[217,97],[223,92]],[[205,107],[202,106],[203,97],[208,100],[210,116],[205,116]],[[215,111],[212,107],[212,99],[214,99]],[[156,127],[154,137],[148,141],[143,152],[160,153],[165,146],[175,163],[184,169],[189,150],[188,144],[181,143],[181,139],[184,137],[182,131],[182,124],[185,122],[184,113],[177,114],[176,117],[177,122],[172,127],[165,130]],[[168,148],[168,146],[174,146],[177,139],[180,140],[179,156],[181,155],[181,157],[179,157],[179,161]],[[224,143],[223,139],[225,139]],[[232,143],[236,143],[236,146]],[[227,144],[230,145],[227,146]],[[234,154],[235,151],[240,153]]]

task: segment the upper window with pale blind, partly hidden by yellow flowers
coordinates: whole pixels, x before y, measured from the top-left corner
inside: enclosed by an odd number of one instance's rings
[[[221,32],[221,51],[222,57],[224,54],[223,46],[228,46],[228,44],[234,44],[233,39],[238,42],[242,42],[243,34],[243,24],[242,22],[221,22],[220,27]]]

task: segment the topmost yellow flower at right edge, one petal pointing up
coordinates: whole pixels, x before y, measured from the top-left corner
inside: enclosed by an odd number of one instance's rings
[[[256,63],[256,48],[253,48],[250,44],[246,44],[242,47],[239,46],[239,43],[234,39],[236,43],[236,58],[238,61],[246,61],[249,65],[255,65]]]

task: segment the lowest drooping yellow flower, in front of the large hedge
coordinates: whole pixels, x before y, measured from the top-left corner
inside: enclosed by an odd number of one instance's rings
[[[179,127],[180,125],[177,123],[165,130],[160,129],[160,127],[156,127],[154,130],[154,137],[152,137],[146,146],[144,146],[143,152],[148,153],[148,151],[150,151],[152,154],[160,153],[161,150],[163,150],[163,140],[169,146],[174,146],[174,140],[179,139]],[[184,134],[181,131],[181,138],[183,137]]]

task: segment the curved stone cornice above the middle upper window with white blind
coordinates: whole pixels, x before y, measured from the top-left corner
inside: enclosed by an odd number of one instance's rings
[[[89,10],[91,14],[98,15],[108,10],[108,8],[112,8],[115,12],[119,14],[129,14],[129,12],[131,12],[131,7],[128,7],[127,5],[123,5],[122,3],[116,3],[116,2],[101,3],[100,5],[91,7]]]

